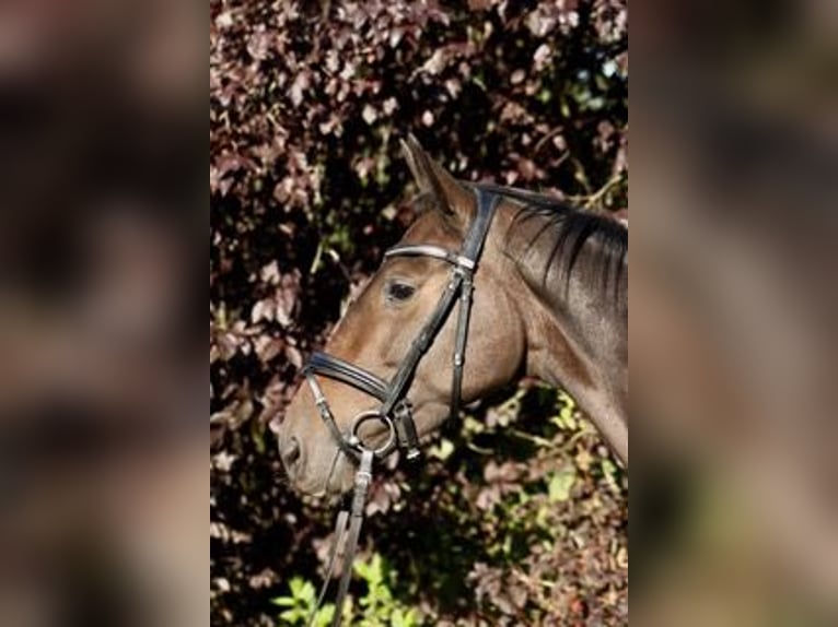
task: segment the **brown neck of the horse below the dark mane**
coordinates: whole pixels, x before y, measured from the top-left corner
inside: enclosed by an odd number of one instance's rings
[[[622,260],[602,239],[589,237],[573,270],[555,255],[560,232],[548,216],[534,215],[513,224],[514,206],[503,212],[505,255],[514,262],[521,292],[520,314],[526,329],[526,372],[573,395],[592,417],[625,414],[628,395],[627,280],[603,268]],[[540,234],[540,235],[538,235]],[[596,418],[595,418],[596,419]],[[622,418],[606,418],[617,423]],[[598,425],[610,440],[620,428]],[[608,431],[612,431],[610,434]],[[615,447],[616,448],[616,447]]]

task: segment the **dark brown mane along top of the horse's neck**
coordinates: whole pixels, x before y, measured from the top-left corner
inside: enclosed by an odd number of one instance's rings
[[[622,224],[603,213],[580,210],[544,193],[490,184],[473,185],[519,203],[508,237],[531,220],[544,221],[526,242],[525,250],[526,255],[539,242],[542,236],[549,236],[550,250],[542,269],[543,287],[547,287],[550,271],[558,270],[567,289],[582,249],[590,241],[601,251],[598,262],[592,268],[593,280],[600,284],[601,296],[619,301],[628,256],[628,229]],[[612,294],[608,293],[609,288],[613,289]]]

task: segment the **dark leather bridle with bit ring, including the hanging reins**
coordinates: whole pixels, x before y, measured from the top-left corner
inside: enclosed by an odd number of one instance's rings
[[[393,257],[430,257],[440,259],[451,265],[451,273],[445,291],[442,293],[437,307],[422,326],[416,339],[411,342],[407,355],[401,360],[395,375],[385,381],[377,375],[326,353],[314,353],[303,374],[314,395],[321,418],[328,427],[331,437],[337,442],[340,452],[347,458],[358,462],[356,472],[354,492],[350,511],[341,511],[338,516],[335,542],[331,547],[327,577],[321,592],[317,607],[311,619],[314,618],[317,608],[322,605],[328,587],[329,578],[334,570],[338,545],[346,535],[346,548],[344,551],[344,575],[335,603],[333,627],[340,625],[342,604],[349,589],[351,576],[351,563],[358,545],[358,536],[363,521],[363,509],[366,501],[366,492],[372,481],[373,462],[384,459],[397,449],[405,451],[408,460],[415,460],[420,456],[419,436],[414,421],[412,406],[407,398],[416,370],[422,356],[433,344],[437,335],[454,309],[454,304],[459,300],[457,311],[456,335],[454,340],[454,354],[452,360],[453,375],[451,388],[451,416],[459,413],[459,402],[463,390],[463,367],[465,365],[466,341],[468,339],[468,321],[472,312],[474,275],[477,263],[486,242],[486,237],[491,226],[494,210],[498,206],[501,194],[496,189],[482,186],[473,186],[477,211],[475,218],[469,225],[468,233],[463,240],[458,252],[447,250],[441,246],[431,244],[403,244],[397,245],[384,253],[385,259]],[[341,431],[329,407],[323,390],[317,382],[317,376],[327,377],[348,385],[361,392],[377,399],[381,405],[377,409],[358,414],[348,430]],[[386,441],[377,448],[369,448],[359,435],[360,427],[369,422],[379,422],[386,428]],[[351,519],[348,521],[348,519]],[[347,529],[347,522],[349,527]],[[310,620],[311,623],[311,620]]]

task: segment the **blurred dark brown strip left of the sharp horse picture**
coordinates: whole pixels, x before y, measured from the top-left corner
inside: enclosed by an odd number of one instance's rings
[[[4,626],[208,617],[207,13],[0,8]]]

